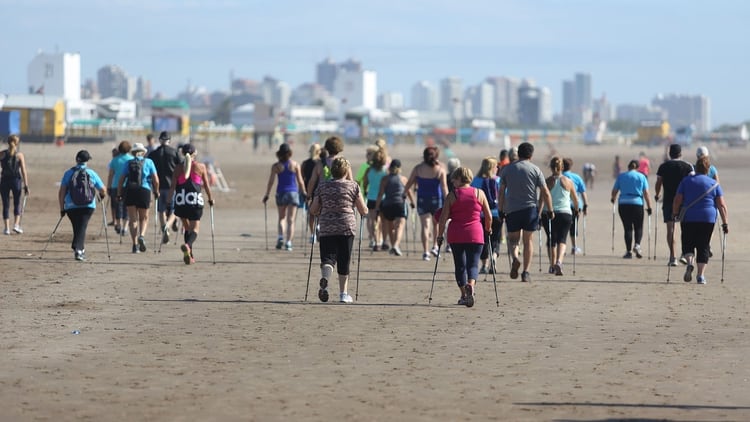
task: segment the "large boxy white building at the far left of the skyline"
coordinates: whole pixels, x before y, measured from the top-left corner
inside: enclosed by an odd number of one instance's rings
[[[28,66],[29,94],[81,99],[81,55],[39,52]]]

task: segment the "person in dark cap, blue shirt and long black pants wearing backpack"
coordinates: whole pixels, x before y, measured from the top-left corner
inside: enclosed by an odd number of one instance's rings
[[[73,241],[70,247],[73,249],[73,257],[76,261],[86,260],[86,229],[96,209],[96,195],[92,195],[91,201],[86,203],[80,203],[78,198],[74,200],[72,192],[69,189],[71,179],[73,179],[79,170],[85,171],[88,173],[94,189],[99,191],[99,199],[103,200],[107,195],[107,188],[104,187],[102,179],[94,170],[88,168],[87,163],[89,160],[91,160],[91,154],[88,151],[78,151],[76,154],[76,165],[65,171],[62,180],[60,180],[60,189],[57,193],[60,205],[60,217],[62,218],[67,215],[70,224],[73,226]]]

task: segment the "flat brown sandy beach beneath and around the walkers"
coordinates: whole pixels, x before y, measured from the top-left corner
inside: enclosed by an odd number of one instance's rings
[[[89,147],[102,175],[111,147]],[[110,227],[109,260],[100,208],[87,262],[73,260],[67,219],[40,259],[58,220],[57,183],[78,149],[22,144],[25,233],[0,238],[0,420],[750,420],[746,150],[712,148],[730,212],[723,283],[718,230],[705,286],[684,283],[684,267],[666,282],[663,224],[652,223],[655,260],[620,258],[619,218],[612,251],[612,159],[625,165],[639,149],[559,146],[577,170],[599,169],[585,256],[575,274],[568,256],[555,277],[539,272],[535,249],[529,284],[510,280],[500,259],[499,306],[492,277],[480,276],[469,309],[455,305],[450,257],[428,303],[435,261],[421,260],[411,229],[403,257],[372,253],[365,239],[351,305],[318,301],[316,251],[305,302],[310,246],[299,236],[293,252],[274,249],[275,206],[266,248],[261,197],[273,151],[229,140],[210,145],[233,188],[216,195],[215,265],[209,213],[198,262],[186,266],[174,243],[153,251],[152,229],[148,251],[131,254]],[[646,151],[661,161],[663,151]],[[476,170],[498,151],[455,152]],[[533,161],[546,167],[549,152],[538,147]],[[364,149],[345,153],[356,169]],[[408,172],[421,148],[391,155]]]

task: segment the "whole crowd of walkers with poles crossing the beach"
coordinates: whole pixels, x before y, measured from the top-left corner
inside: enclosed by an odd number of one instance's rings
[[[73,227],[71,248],[76,260],[86,260],[88,222],[97,200],[104,202],[108,197],[110,224],[120,241],[129,234],[132,253],[147,250],[153,210],[155,238],[160,237],[161,244],[168,244],[172,233],[178,230],[179,221],[184,233],[180,242],[183,262],[195,262],[193,245],[200,232],[203,209],[206,203],[214,205],[208,169],[196,161],[194,145],[187,143],[175,148],[167,132],[162,132],[158,141],[157,146],[150,136],[147,146],[120,142],[109,160],[106,183],[88,167],[93,159],[88,151],[76,154],[75,165],[60,180],[58,194],[60,219],[67,216]],[[19,151],[19,142],[18,136],[9,136],[8,148],[0,151],[5,235],[23,233],[21,217],[29,195],[26,160]],[[424,149],[422,161],[406,177],[401,160],[392,158],[385,142],[378,140],[366,148],[366,160],[355,177],[343,151],[344,142],[332,136],[322,146],[311,145],[309,156],[298,163],[292,159],[291,145],[281,144],[262,199],[266,207],[275,184],[276,249],[293,250],[297,214],[304,213],[305,227],[310,232],[306,240],[313,247],[318,245],[320,252],[318,297],[323,302],[329,299],[328,287],[334,269],[338,274],[339,301],[353,300],[348,292],[350,264],[358,235],[362,241],[363,226],[372,253],[388,251],[401,257],[410,216],[421,228],[422,260],[439,257],[444,246],[445,252],[452,254],[460,290],[458,304],[469,307],[474,305],[479,274],[494,277],[497,273],[496,262],[503,244],[510,265],[509,276],[514,280],[520,276],[522,282],[531,281],[536,231],[540,231],[540,253],[541,230],[546,234],[549,274],[562,276],[566,255],[583,252],[578,239],[581,223],[585,230],[588,213],[586,189],[594,186],[596,172],[592,163],[584,164],[582,178],[573,171],[572,159],[554,155],[549,159],[545,177],[542,169],[532,163],[534,145],[523,142],[517,148],[501,151],[497,158],[482,159],[475,175],[468,167],[461,166],[456,157],[450,158],[452,165],[443,164],[440,148],[430,145]],[[706,265],[713,254],[710,242],[714,226],[721,218],[721,228],[726,234],[729,223],[718,171],[711,164],[708,149],[698,148],[696,160],[694,164],[684,161],[681,146],[670,145],[667,159],[656,171],[652,196],[648,180],[652,166],[646,154],[642,152],[629,161],[624,171],[620,168],[620,157],[615,157],[610,195],[612,249],[615,216],[619,214],[625,245],[623,258],[644,256],[645,218],[648,218],[650,253],[651,216],[656,208],[657,217],[661,211],[666,225],[667,265],[674,267],[681,262],[686,266],[684,281],[692,281],[695,272],[697,282],[705,284]],[[106,223],[106,210],[102,212]],[[678,225],[681,247],[677,246],[675,234]],[[417,239],[412,240],[417,243]],[[539,259],[541,263],[541,256]]]

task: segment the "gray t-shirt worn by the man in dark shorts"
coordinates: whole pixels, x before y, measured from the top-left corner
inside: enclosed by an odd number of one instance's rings
[[[542,171],[530,160],[518,160],[503,167],[500,180],[505,185],[503,212],[510,214],[537,206],[537,188],[544,187]]]

